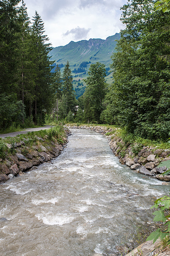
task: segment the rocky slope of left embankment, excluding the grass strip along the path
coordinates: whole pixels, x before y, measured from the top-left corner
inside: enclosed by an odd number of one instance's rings
[[[68,142],[67,137],[70,131],[64,128],[65,136],[63,143],[59,144],[57,139],[49,140],[49,136],[44,138],[35,135],[33,143],[29,143],[29,138],[23,138],[23,141],[7,144],[6,156],[0,158],[0,182],[5,182],[17,175],[23,175],[24,172],[35,168],[39,164],[49,162],[61,154],[64,145]],[[11,150],[12,149],[12,150]],[[9,153],[13,151],[11,154]]]

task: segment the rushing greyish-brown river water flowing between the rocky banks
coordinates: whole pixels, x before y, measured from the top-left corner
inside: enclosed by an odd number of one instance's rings
[[[169,186],[119,164],[108,140],[72,129],[52,163],[0,184],[0,255],[92,256],[131,241]]]

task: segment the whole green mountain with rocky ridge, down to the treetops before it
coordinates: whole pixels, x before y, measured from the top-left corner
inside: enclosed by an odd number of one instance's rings
[[[116,33],[114,36],[109,36],[106,40],[103,39],[90,39],[81,40],[78,42],[71,41],[65,46],[55,47],[49,52],[51,60],[55,61],[55,67],[58,64],[63,72],[64,65],[68,61],[73,75],[73,87],[76,91],[77,97],[80,97],[85,90],[85,82],[83,78],[87,77],[88,68],[92,63],[101,62],[106,65],[106,82],[111,83],[111,55],[115,52],[116,41],[119,40],[120,34]]]

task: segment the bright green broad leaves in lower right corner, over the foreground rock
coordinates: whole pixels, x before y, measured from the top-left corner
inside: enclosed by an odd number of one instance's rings
[[[155,215],[154,221],[163,222],[163,226],[162,229],[158,228],[152,232],[147,238],[147,241],[153,239],[154,243],[158,238],[162,240],[167,237],[167,244],[170,245],[170,197],[163,196],[162,198],[158,198],[151,208],[158,209],[153,212],[153,215]]]

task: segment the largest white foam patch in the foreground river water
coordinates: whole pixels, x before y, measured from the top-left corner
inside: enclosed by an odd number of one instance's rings
[[[35,217],[38,220],[42,220],[46,225],[59,225],[62,226],[67,223],[71,223],[74,220],[73,216],[69,216],[67,214],[53,214],[52,212],[48,212],[47,214],[36,214]]]

